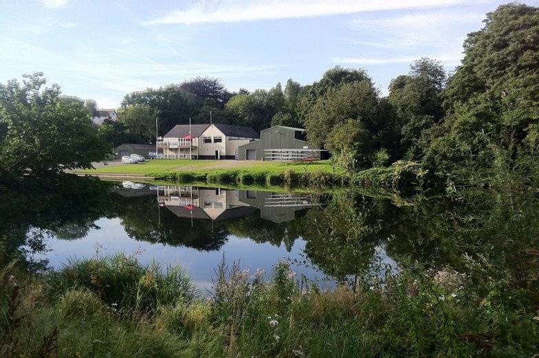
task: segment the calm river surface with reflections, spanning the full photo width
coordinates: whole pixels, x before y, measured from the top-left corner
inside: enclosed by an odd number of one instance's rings
[[[481,258],[486,277],[533,268],[514,255],[537,252],[536,191],[401,198],[365,190],[272,193],[28,178],[0,186],[0,262],[18,258],[43,270],[124,252],[142,263],[181,265],[201,289],[210,287],[223,256],[268,275],[287,260],[299,277],[330,287],[371,282],[415,263],[475,275],[470,262]]]

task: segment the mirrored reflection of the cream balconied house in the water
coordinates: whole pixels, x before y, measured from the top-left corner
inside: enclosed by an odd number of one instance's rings
[[[256,210],[239,200],[237,190],[159,185],[157,193],[159,206],[178,217],[225,220]]]

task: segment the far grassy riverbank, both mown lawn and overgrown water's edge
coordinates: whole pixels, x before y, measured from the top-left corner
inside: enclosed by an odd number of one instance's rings
[[[375,167],[349,173],[331,160],[314,163],[253,162],[238,160],[150,160],[136,165],[113,165],[74,171],[102,178],[138,178],[183,183],[234,184],[252,187],[332,188],[380,187],[403,191],[421,187],[423,171],[418,163],[399,161],[389,167]]]

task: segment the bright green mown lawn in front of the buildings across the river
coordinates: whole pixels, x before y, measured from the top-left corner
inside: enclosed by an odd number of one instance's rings
[[[142,174],[146,176],[164,176],[178,172],[190,173],[217,173],[221,171],[237,170],[249,172],[281,173],[290,169],[292,171],[322,171],[336,173],[329,160],[320,160],[314,163],[281,163],[262,162],[253,160],[189,160],[189,159],[157,159],[148,160],[140,164],[109,165],[97,169],[88,169],[81,172],[87,174]]]

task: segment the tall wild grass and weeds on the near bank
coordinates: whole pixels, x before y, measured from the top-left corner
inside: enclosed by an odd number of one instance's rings
[[[239,265],[202,298],[179,269],[133,257],[0,272],[2,357],[469,357],[534,353],[538,323],[475,302],[451,270],[320,291],[277,263]],[[489,298],[492,302],[495,298]],[[488,303],[488,302],[487,302]],[[498,315],[503,320],[498,320]],[[494,320],[493,320],[494,318]],[[482,332],[494,330],[485,340]],[[517,354],[518,355],[518,354]],[[518,355],[520,356],[520,355]],[[530,355],[522,355],[530,356]]]

